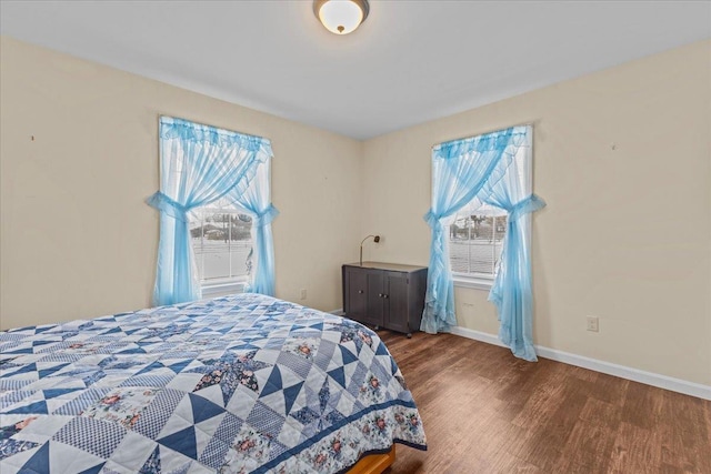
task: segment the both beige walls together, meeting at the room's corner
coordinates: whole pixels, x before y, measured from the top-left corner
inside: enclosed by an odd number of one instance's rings
[[[1,61],[0,327],[150,303],[158,114],[272,140],[277,293],[323,310],[362,235],[428,263],[432,144],[533,122],[535,343],[711,384],[711,41],[364,143],[8,38]],[[498,332],[483,291],[457,314]]]

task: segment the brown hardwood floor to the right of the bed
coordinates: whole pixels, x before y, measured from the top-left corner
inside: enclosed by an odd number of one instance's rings
[[[391,474],[711,473],[711,402],[452,334],[380,331],[429,451]]]

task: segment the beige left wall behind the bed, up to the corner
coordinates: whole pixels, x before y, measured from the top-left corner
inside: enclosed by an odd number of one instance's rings
[[[272,140],[277,294],[341,307],[362,143],[4,37],[0,56],[0,327],[150,304],[159,114]]]

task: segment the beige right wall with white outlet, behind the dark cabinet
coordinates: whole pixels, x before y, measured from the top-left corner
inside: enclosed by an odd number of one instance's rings
[[[534,342],[711,384],[711,41],[365,142],[371,256],[428,263],[433,144],[528,122]],[[457,317],[495,334],[485,296],[458,289]]]

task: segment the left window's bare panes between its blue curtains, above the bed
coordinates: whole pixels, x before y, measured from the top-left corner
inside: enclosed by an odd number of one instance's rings
[[[221,199],[194,209],[190,238],[203,295],[243,291],[251,273],[252,219]]]

